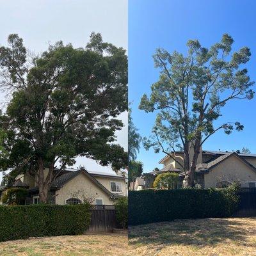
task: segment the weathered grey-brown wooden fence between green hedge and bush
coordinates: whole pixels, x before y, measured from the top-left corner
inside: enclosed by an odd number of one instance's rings
[[[86,232],[108,232],[117,228],[114,205],[92,205],[91,223]]]

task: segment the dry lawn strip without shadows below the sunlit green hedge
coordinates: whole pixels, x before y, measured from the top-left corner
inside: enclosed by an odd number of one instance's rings
[[[127,255],[127,236],[101,234],[38,237],[0,243],[1,256]]]

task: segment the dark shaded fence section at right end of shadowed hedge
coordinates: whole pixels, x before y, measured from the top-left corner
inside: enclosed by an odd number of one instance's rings
[[[256,216],[256,188],[240,188],[238,195],[240,197],[240,202],[234,216]]]

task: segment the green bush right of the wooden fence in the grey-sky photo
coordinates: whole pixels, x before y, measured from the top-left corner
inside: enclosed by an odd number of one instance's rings
[[[116,220],[122,228],[128,228],[128,198],[118,198],[115,203]]]

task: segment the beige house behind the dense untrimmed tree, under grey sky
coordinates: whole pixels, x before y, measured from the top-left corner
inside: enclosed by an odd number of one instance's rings
[[[45,172],[48,170],[45,169]],[[84,200],[93,205],[113,205],[115,199],[127,196],[125,177],[108,173],[66,169],[54,170],[58,175],[51,184],[49,202],[51,204],[81,204]],[[45,175],[46,176],[46,175]],[[6,185],[4,180],[0,186],[0,204],[4,193],[9,188],[28,189],[25,204],[38,204],[38,186],[36,179],[28,173],[19,175],[12,184]]]

